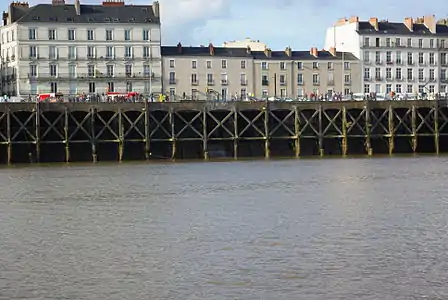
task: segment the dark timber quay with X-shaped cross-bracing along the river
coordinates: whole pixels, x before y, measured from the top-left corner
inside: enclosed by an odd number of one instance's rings
[[[446,100],[0,103],[0,163],[448,152]]]

